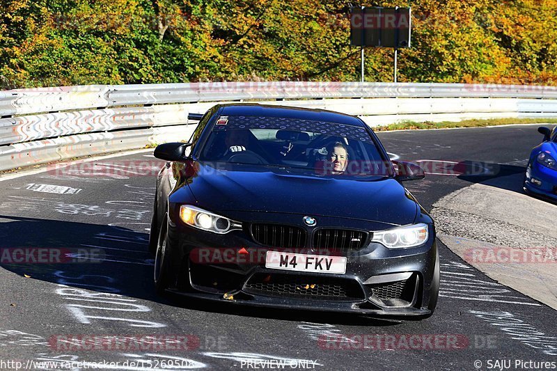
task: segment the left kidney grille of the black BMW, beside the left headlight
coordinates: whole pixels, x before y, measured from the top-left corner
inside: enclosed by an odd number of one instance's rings
[[[253,223],[251,235],[258,244],[271,247],[306,247],[306,230],[294,226]]]

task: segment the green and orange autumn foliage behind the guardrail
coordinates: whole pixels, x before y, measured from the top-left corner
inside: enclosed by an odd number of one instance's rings
[[[358,81],[349,1],[0,0],[0,88],[185,81]],[[364,5],[371,5],[366,4]],[[399,80],[554,84],[557,0],[404,0]],[[391,81],[392,49],[366,49]]]

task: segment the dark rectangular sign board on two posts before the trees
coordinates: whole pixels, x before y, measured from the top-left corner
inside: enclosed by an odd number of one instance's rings
[[[410,47],[411,8],[378,6],[350,9],[350,45],[359,47]]]

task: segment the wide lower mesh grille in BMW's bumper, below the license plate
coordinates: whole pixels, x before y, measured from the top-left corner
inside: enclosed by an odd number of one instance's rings
[[[255,274],[246,283],[244,290],[306,299],[364,299],[361,287],[356,282],[343,278]]]

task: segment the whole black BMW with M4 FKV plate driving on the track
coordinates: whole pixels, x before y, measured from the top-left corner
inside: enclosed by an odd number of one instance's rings
[[[190,117],[191,118],[191,117]],[[251,306],[429,317],[434,223],[362,120],[217,105],[165,143],[150,228],[157,292]]]

